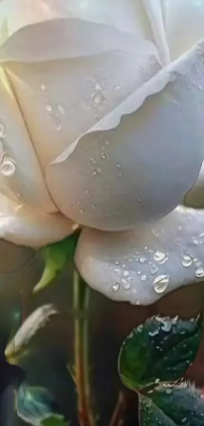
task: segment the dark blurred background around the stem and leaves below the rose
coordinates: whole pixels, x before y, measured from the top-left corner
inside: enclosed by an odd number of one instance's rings
[[[31,343],[30,354],[24,358],[22,367],[26,370],[30,385],[49,388],[55,395],[62,411],[78,426],[76,417],[76,392],[66,364],[73,364],[73,309],[72,309],[72,271],[67,268],[55,282],[43,291],[32,294],[38,281],[43,262],[38,256],[24,270],[18,269],[34,257],[35,252],[1,242],[0,247],[0,315],[1,347],[4,346],[5,331],[14,324],[14,315],[23,310],[29,315],[36,307],[53,303],[59,311]],[[145,285],[145,283],[144,283]],[[117,355],[121,343],[132,328],[146,317],[160,313],[189,318],[203,309],[204,286],[190,286],[178,290],[149,307],[134,307],[126,303],[112,302],[91,290],[90,301],[90,367],[93,389],[93,403],[100,415],[99,426],[108,425],[114,409],[121,383],[117,375]],[[204,340],[200,345],[196,361],[187,376],[204,387]],[[134,396],[133,396],[134,397]],[[130,407],[136,401],[130,396]],[[131,412],[131,408],[130,408]],[[23,422],[19,420],[18,425]],[[128,423],[127,423],[128,424]]]

